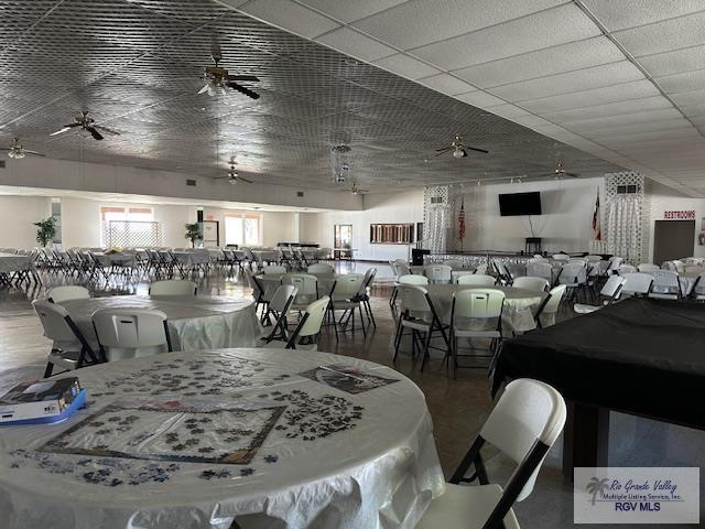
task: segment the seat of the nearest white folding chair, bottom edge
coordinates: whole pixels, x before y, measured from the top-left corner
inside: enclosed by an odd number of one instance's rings
[[[501,496],[499,485],[446,484],[445,494],[431,503],[416,529],[480,529]],[[511,509],[505,517],[505,527],[519,529]]]

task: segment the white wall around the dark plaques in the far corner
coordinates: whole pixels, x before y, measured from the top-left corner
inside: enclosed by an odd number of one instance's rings
[[[364,195],[361,212],[301,213],[300,240],[322,247],[333,246],[333,226],[352,225],[352,248],[356,258],[384,261],[408,259],[410,245],[370,244],[370,224],[403,224],[423,222],[423,190]]]

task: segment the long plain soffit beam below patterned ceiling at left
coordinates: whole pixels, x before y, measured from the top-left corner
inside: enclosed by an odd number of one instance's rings
[[[195,180],[196,186],[187,186],[186,179]],[[189,198],[194,204],[210,199],[324,209],[362,207],[362,198],[350,193],[275,183],[230,185],[208,176],[29,156],[8,160],[7,168],[0,169],[0,185]],[[297,196],[299,191],[304,192],[303,197]]]

